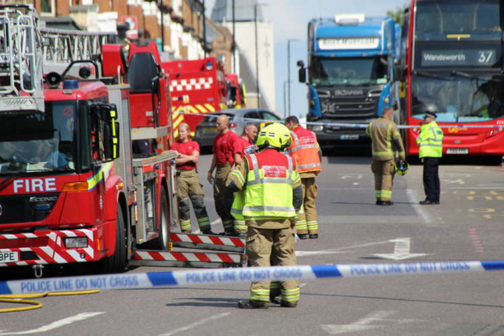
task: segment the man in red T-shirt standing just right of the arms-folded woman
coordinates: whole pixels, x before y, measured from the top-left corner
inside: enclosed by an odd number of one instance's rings
[[[235,235],[234,219],[231,216],[233,193],[227,190],[226,179],[234,167],[233,149],[234,143],[239,137],[229,129],[229,117],[225,114],[221,114],[217,118],[217,130],[219,134],[214,139],[214,146],[212,148],[214,157],[207,179],[214,185],[215,210],[222,220],[222,225],[224,226],[223,234],[232,236]],[[214,169],[216,169],[215,178],[213,176]]]

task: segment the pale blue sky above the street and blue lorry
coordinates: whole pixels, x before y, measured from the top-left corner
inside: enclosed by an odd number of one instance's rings
[[[206,0],[210,16],[215,0]],[[253,0],[250,0],[253,3]],[[283,83],[287,81],[287,41],[290,43],[291,114],[305,116],[307,112],[306,86],[297,81],[298,59],[306,63],[307,26],[312,18],[334,17],[335,14],[364,13],[366,16],[385,16],[388,10],[403,7],[407,0],[259,0],[266,4],[263,9],[266,21],[273,23],[275,30],[275,111],[284,111]]]

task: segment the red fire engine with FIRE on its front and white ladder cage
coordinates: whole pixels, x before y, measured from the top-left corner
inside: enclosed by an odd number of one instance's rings
[[[42,85],[35,11],[0,7],[0,35],[0,266],[32,265],[41,276],[44,264],[89,261],[106,272],[153,259],[240,263],[240,254],[167,255],[176,153],[163,151],[172,139],[169,80],[155,44],[132,44],[128,57],[104,44],[101,68],[73,60]],[[173,240],[202,240],[187,236]],[[242,249],[233,244],[213,246]]]

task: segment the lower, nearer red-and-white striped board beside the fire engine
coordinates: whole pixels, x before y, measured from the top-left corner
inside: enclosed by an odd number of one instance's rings
[[[206,261],[240,263],[240,254],[204,252],[137,251],[136,260]]]

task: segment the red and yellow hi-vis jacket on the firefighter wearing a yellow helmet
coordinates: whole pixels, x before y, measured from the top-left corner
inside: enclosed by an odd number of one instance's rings
[[[303,192],[295,161],[274,149],[244,156],[226,185],[233,192],[243,190],[243,204],[235,199],[231,211],[241,210],[251,227],[288,228],[289,219],[301,208]]]

